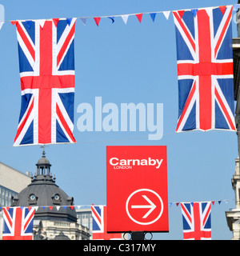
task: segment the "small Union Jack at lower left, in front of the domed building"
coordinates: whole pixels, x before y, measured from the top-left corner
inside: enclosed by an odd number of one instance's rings
[[[34,207],[4,207],[2,240],[32,240]]]

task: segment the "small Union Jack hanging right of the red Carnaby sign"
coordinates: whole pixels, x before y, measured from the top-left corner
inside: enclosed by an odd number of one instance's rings
[[[211,239],[211,202],[181,202],[183,239]]]

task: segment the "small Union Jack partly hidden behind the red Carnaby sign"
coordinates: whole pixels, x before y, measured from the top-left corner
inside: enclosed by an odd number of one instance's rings
[[[120,240],[122,233],[106,232],[106,206],[91,206],[93,217],[93,240]]]

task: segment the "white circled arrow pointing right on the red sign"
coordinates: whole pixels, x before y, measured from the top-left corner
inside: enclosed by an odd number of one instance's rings
[[[142,198],[144,198],[144,200],[142,200]],[[147,210],[147,212],[142,211],[144,209],[149,210]],[[135,190],[126,200],[126,213],[133,222],[138,224],[152,224],[161,217],[162,212],[162,198],[154,190]]]

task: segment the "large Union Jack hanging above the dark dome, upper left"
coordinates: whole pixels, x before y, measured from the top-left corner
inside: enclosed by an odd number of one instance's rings
[[[16,24],[22,106],[14,146],[74,143],[76,18]]]

